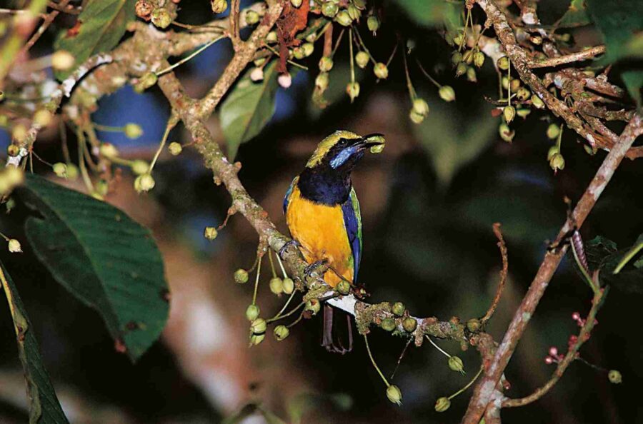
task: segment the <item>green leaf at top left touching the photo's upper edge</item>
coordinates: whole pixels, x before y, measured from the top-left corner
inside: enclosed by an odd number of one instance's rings
[[[76,58],[76,67],[94,54],[110,51],[121,40],[129,21],[136,18],[136,0],[89,0],[78,16],[78,32],[62,31],[54,49],[66,50]],[[75,69],[74,68],[74,69]],[[65,79],[74,69],[56,71],[56,78]]]

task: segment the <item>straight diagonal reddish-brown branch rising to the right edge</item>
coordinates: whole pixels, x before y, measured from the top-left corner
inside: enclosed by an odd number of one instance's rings
[[[534,281],[532,281],[531,286],[529,286],[529,291],[527,291],[527,294],[522,299],[522,303],[514,314],[507,333],[504,334],[504,338],[494,355],[492,364],[486,370],[482,380],[479,381],[474,390],[474,394],[469,401],[467,414],[464,415],[462,423],[477,424],[482,418],[484,410],[487,409],[487,405],[489,405],[489,401],[492,399],[493,390],[502,377],[504,369],[507,368],[507,364],[512,358],[525,328],[527,328],[527,323],[529,323],[529,320],[532,318],[540,299],[544,295],[545,290],[547,290],[554,271],[558,268],[564,253],[567,251],[567,245],[563,243],[564,238],[574,226],[582,226],[585,218],[587,218],[589,212],[592,211],[592,208],[607,186],[607,183],[609,183],[612,176],[614,176],[614,171],[618,168],[619,163],[621,163],[625,157],[628,149],[632,146],[637,136],[642,133],[643,120],[641,115],[636,113],[621,133],[619,141],[604,159],[596,175],[589,183],[587,190],[583,193],[582,198],[574,208],[572,215],[560,229],[553,245],[557,247],[545,254],[544,260],[534,277]]]

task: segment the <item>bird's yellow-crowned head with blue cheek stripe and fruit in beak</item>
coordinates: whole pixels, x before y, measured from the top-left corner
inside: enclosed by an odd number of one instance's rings
[[[353,170],[368,148],[383,143],[382,134],[362,137],[350,131],[335,131],[317,145],[306,163],[306,168],[347,174]]]

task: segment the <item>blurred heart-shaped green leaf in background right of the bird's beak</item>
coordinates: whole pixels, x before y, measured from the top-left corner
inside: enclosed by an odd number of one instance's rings
[[[414,125],[414,133],[431,157],[442,188],[449,186],[460,168],[473,161],[491,143],[497,121],[488,114],[477,119],[458,113],[455,106],[432,104],[427,118]]]

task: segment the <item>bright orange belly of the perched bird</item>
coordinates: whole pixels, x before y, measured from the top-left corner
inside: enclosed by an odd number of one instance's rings
[[[339,206],[325,206],[301,198],[293,188],[286,209],[286,223],[292,238],[301,244],[301,253],[308,263],[326,260],[339,275],[352,283],[353,254]],[[342,281],[329,269],[324,281],[334,287]]]

